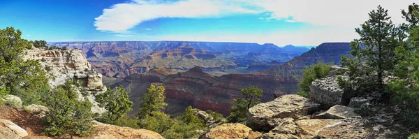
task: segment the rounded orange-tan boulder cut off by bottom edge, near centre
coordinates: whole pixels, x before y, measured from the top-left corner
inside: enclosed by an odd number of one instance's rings
[[[224,139],[224,138],[257,138],[260,133],[253,133],[251,129],[244,124],[222,124],[210,129],[201,136],[201,139]],[[255,137],[256,136],[256,137]],[[251,138],[249,138],[251,137]]]

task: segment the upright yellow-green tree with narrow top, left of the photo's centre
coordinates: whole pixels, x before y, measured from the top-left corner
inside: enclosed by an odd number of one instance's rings
[[[155,85],[150,85],[147,88],[147,93],[142,95],[143,102],[140,103],[140,111],[138,113],[138,119],[142,119],[147,115],[150,115],[154,111],[160,111],[168,104],[164,102],[166,96],[164,96],[164,87],[159,86],[156,87]]]

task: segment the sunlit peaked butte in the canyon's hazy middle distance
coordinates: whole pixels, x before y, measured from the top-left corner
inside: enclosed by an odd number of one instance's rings
[[[181,43],[169,50],[154,50],[132,64],[131,73],[145,73],[152,68],[166,67],[172,71],[187,71],[194,66],[203,67],[207,71],[223,71],[234,69],[233,61],[217,58],[207,50],[198,50],[186,43]]]

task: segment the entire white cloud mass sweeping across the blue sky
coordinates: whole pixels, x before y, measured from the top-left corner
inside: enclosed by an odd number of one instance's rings
[[[94,26],[100,31],[125,33],[147,20],[160,17],[205,18],[223,17],[236,13],[265,13],[263,20],[304,22],[316,29],[275,32],[265,34],[230,35],[220,32],[219,36],[163,36],[158,40],[177,41],[238,41],[275,43],[285,45],[318,45],[327,41],[352,41],[357,38],[354,28],[368,19],[369,11],[378,5],[388,9],[395,23],[404,22],[400,11],[415,0],[181,0],[145,1],[131,0],[104,9],[95,18]],[[147,29],[145,29],[147,30]]]

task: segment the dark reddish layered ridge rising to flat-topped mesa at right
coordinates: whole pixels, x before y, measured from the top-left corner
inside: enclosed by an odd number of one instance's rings
[[[189,105],[229,115],[233,98],[243,97],[241,89],[251,85],[263,89],[263,102],[284,94],[295,94],[298,91],[296,78],[302,75],[302,68],[318,61],[339,64],[341,54],[347,54],[349,50],[349,43],[323,43],[285,64],[257,73],[215,76],[205,73],[201,67],[179,73],[162,67],[152,68],[147,73],[133,73],[124,79],[108,78],[112,81],[106,81],[105,85],[125,87],[134,102],[133,111],[129,113],[131,116],[138,112],[140,98],[151,84],[166,88],[166,112],[172,116],[181,114]]]

